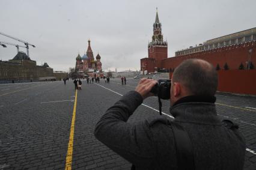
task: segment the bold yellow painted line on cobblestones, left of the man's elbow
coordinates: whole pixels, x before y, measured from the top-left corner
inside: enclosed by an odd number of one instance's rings
[[[69,135],[69,145],[67,145],[67,156],[66,156],[66,170],[72,169],[72,154],[73,154],[73,140],[74,140],[74,131],[75,131],[75,120],[76,120],[76,101],[78,97],[78,90],[76,90],[75,104],[73,108],[73,117],[72,123],[70,127],[70,135]]]

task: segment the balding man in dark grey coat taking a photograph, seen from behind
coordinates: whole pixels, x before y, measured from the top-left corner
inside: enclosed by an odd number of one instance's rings
[[[209,62],[187,59],[175,68],[170,90],[173,121],[156,115],[139,124],[126,123],[153,95],[150,91],[156,83],[141,79],[135,91],[111,106],[96,125],[96,138],[136,169],[243,169],[245,139],[237,126],[231,122],[224,126],[217,115],[218,74]],[[189,136],[180,142],[191,144],[191,162],[180,157],[175,124]],[[181,167],[182,163],[190,167]]]

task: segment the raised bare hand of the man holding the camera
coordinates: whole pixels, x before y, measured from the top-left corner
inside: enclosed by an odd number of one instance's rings
[[[153,93],[150,93],[150,90],[151,88],[153,88],[154,85],[156,85],[156,83],[156,80],[142,78],[139,81],[138,86],[135,88],[135,91],[141,94],[143,99],[146,99],[150,96],[154,96]]]

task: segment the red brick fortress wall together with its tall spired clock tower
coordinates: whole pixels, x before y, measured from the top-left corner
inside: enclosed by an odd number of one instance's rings
[[[161,70],[169,72],[171,79],[172,72],[185,59],[204,59],[218,70],[218,91],[256,95],[256,28],[190,46],[168,58],[168,43],[163,41],[161,26],[156,13],[148,58],[141,59],[143,74]]]

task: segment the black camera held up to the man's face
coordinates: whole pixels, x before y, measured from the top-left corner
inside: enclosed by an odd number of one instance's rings
[[[158,83],[154,85],[150,93],[154,93],[160,99],[170,99],[171,80],[158,80]]]

